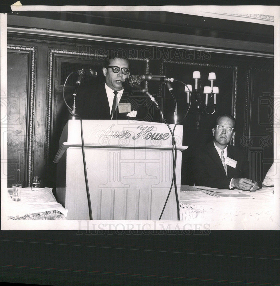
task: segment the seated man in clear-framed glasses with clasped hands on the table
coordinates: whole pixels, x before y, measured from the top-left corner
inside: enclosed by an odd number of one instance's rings
[[[228,144],[235,134],[235,118],[224,114],[212,129],[214,141],[197,150],[194,159],[194,180],[197,186],[255,192],[258,183],[249,179],[249,163],[245,154]]]

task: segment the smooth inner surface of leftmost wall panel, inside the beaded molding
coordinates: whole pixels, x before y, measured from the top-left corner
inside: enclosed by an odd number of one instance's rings
[[[8,63],[8,186],[28,186],[30,53],[9,50]]]

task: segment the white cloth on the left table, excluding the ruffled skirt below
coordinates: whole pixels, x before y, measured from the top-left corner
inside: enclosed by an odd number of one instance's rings
[[[31,188],[22,188],[19,202],[12,201],[12,189],[8,188],[7,210],[9,217],[24,216],[26,214],[58,210],[65,217],[68,210],[56,202],[51,188],[39,188],[38,192]]]

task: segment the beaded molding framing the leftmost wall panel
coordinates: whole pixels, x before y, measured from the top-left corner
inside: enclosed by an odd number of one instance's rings
[[[8,45],[7,50],[15,50],[15,51],[26,51],[31,55],[31,70],[30,70],[30,91],[27,94],[27,98],[29,100],[29,116],[26,118],[26,122],[28,125],[26,130],[28,133],[27,142],[25,142],[28,151],[28,173],[27,173],[27,181],[30,182],[30,177],[33,173],[33,164],[34,164],[34,115],[35,115],[35,99],[36,99],[36,48],[29,46],[19,46],[19,45]]]

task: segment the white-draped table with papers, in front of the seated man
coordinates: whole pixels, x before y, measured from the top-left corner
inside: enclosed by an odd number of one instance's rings
[[[180,192],[180,220],[201,229],[279,229],[279,198],[272,187],[256,192],[233,191],[245,197],[216,197],[196,186],[197,191]],[[203,190],[201,190],[203,189]],[[220,190],[227,193],[230,190]],[[210,192],[211,193],[211,192]],[[216,194],[214,192],[214,194]]]

